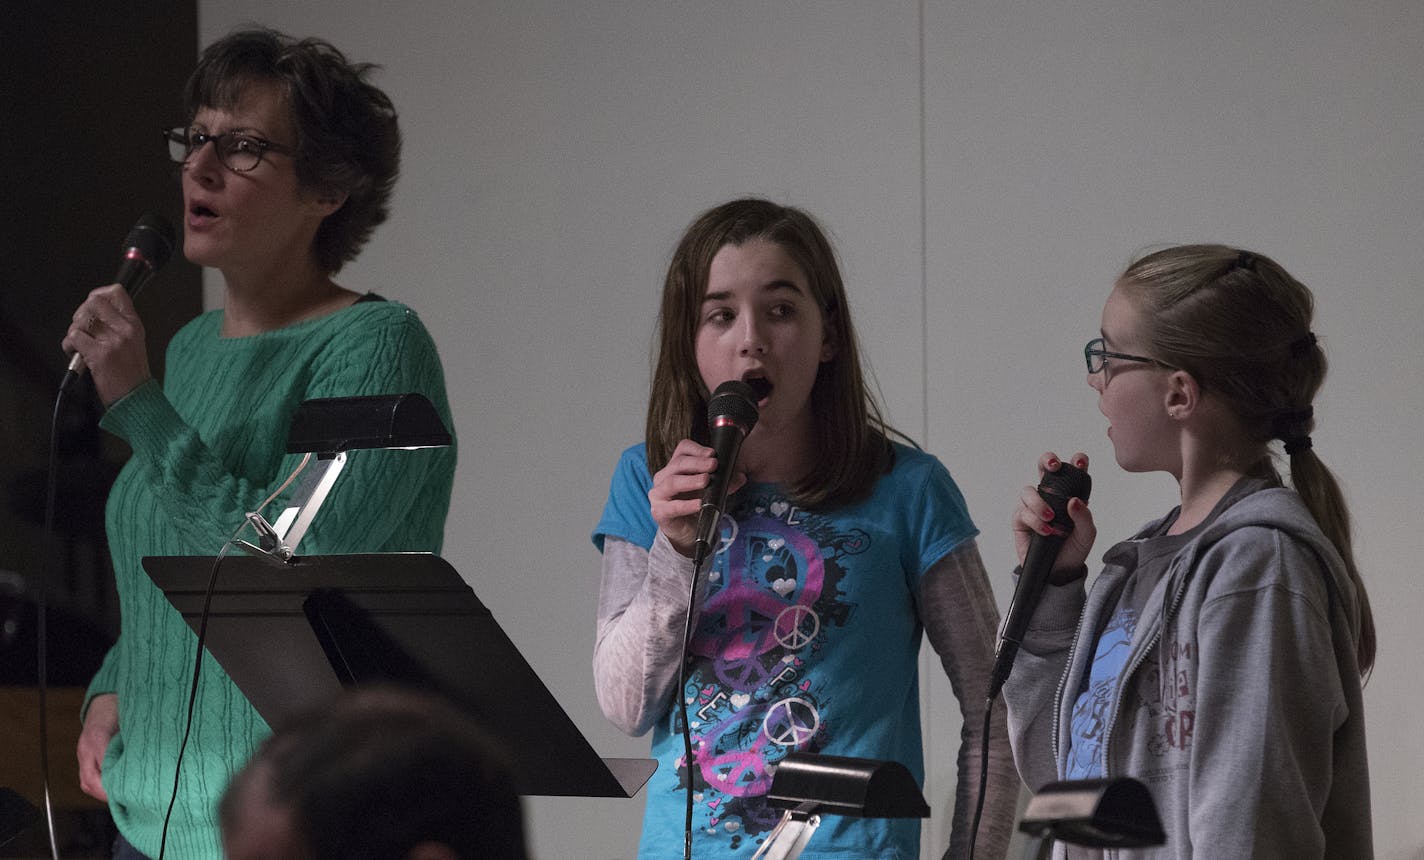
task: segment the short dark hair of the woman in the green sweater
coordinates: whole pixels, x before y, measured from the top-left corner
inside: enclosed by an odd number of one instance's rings
[[[320,38],[251,28],[208,46],[184,87],[188,120],[204,107],[235,107],[255,83],[281,88],[296,130],[298,182],[318,194],[346,195],[345,205],[316,231],[313,251],[326,273],[356,259],[390,215],[400,172],[396,108],[366,80],[373,68],[349,63]]]

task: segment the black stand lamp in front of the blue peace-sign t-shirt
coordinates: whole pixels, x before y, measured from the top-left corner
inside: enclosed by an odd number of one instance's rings
[[[785,809],[752,860],[796,860],[820,817],[927,819],[930,804],[900,762],[790,753],[776,765],[766,800]]]

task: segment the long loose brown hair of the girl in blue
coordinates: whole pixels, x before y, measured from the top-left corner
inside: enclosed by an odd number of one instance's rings
[[[726,245],[762,239],[779,246],[805,273],[834,347],[810,392],[820,464],[787,487],[806,508],[867,495],[893,463],[889,430],[869,394],[850,323],[846,286],[824,232],[806,212],[765,199],[736,199],[708,209],[678,242],[662,288],[658,360],[648,399],[648,468],[668,464],[678,441],[708,443],[708,390],[698,372],[695,340],[712,258]]]

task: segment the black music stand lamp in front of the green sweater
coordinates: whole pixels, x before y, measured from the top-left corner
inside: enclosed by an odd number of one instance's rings
[[[238,544],[290,561],[318,510],[346,468],[346,451],[356,449],[431,449],[450,444],[434,404],[422,394],[376,394],[367,397],[319,397],[303,400],[292,416],[286,436],[288,454],[316,454],[316,467],[306,470],[276,523],[261,514],[249,521],[258,531],[258,545]]]

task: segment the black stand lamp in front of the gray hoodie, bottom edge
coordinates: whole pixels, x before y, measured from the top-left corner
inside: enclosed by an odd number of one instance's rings
[[[1025,860],[1047,860],[1055,840],[1099,849],[1166,843],[1152,795],[1126,776],[1051,782],[1030,799],[1018,829],[1032,837]]]

